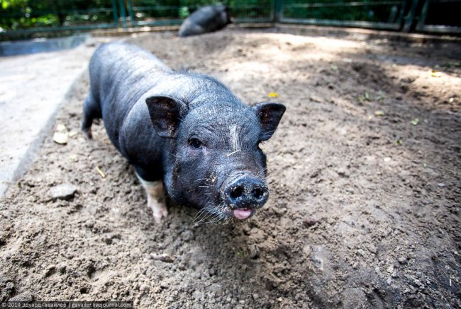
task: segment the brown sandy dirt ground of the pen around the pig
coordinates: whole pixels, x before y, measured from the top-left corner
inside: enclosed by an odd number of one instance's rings
[[[103,125],[93,141],[73,135],[82,76],[57,118],[67,145],[51,133],[0,202],[0,301],[461,307],[459,44],[277,30],[128,41],[245,102],[287,105],[265,146],[270,201],[245,223],[194,226],[195,209],[170,206],[156,224]],[[61,184],[77,191],[53,199]]]

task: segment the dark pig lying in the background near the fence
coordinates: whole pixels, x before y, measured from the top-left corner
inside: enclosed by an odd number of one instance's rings
[[[221,30],[231,23],[227,6],[204,6],[184,20],[179,28],[179,36],[201,35]]]

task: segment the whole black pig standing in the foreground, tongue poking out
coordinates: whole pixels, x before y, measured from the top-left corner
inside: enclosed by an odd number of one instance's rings
[[[245,105],[210,76],[172,71],[133,45],[102,45],[91,58],[82,131],[102,117],[106,132],[135,168],[156,221],[168,196],[201,209],[204,221],[249,218],[265,202],[266,157],[258,145],[274,133],[285,107]]]

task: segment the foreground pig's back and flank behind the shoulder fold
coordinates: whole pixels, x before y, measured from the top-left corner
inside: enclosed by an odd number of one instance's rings
[[[106,132],[119,151],[123,120],[136,101],[158,82],[162,75],[155,74],[158,71],[170,69],[153,54],[133,45],[104,44],[91,57],[91,94],[101,106]]]

